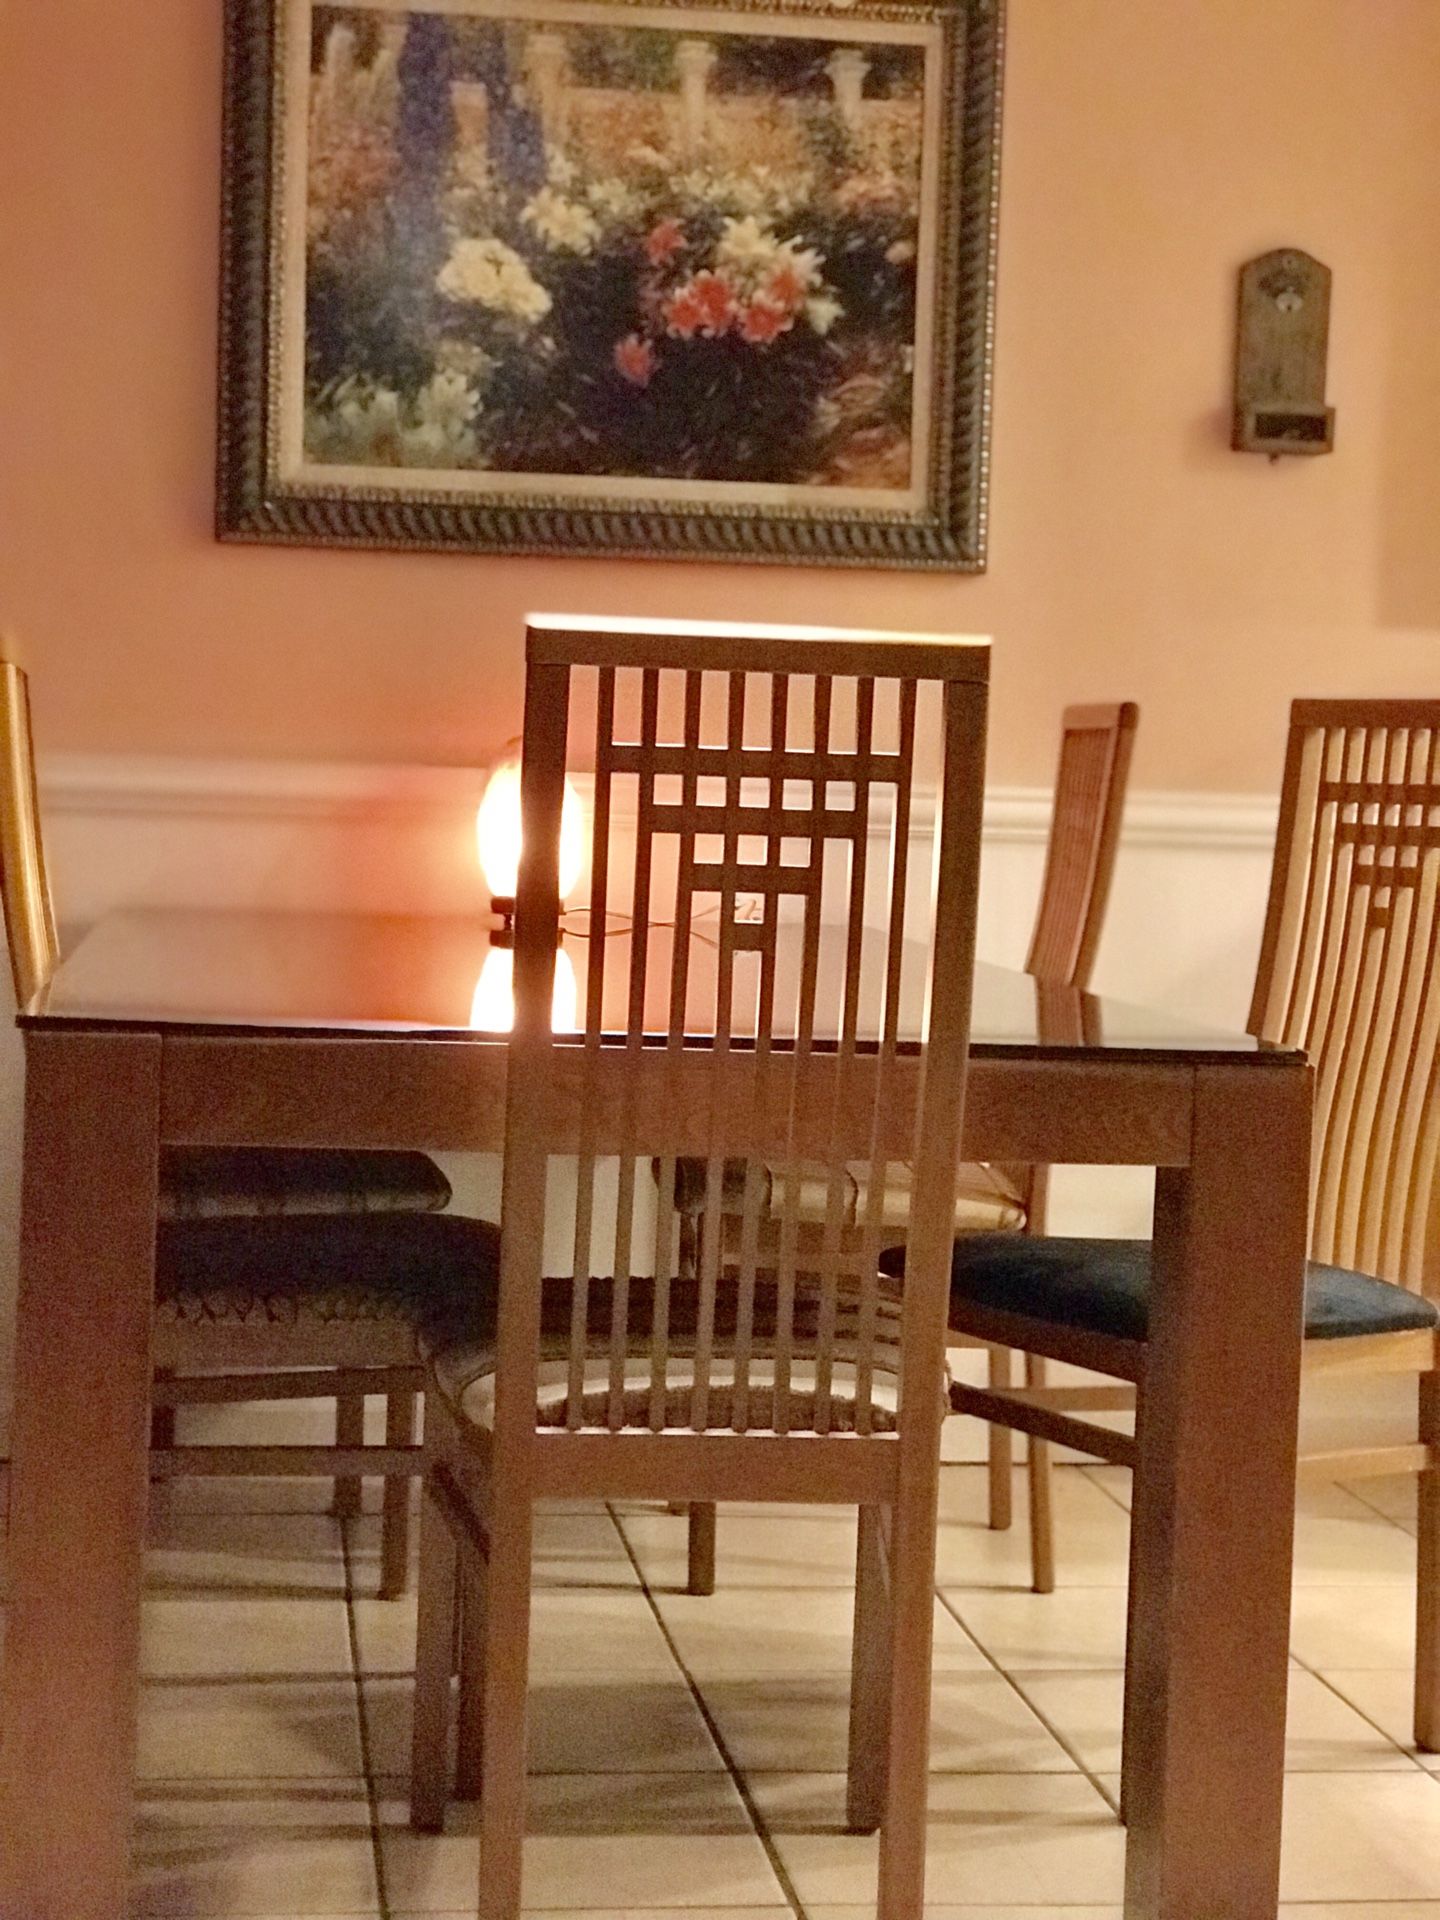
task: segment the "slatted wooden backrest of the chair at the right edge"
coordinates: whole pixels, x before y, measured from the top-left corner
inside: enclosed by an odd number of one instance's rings
[[[1296,701],[1250,1031],[1315,1066],[1311,1258],[1423,1286],[1440,1150],[1440,701]]]

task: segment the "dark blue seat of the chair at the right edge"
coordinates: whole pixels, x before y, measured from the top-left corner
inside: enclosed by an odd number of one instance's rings
[[[881,1271],[904,1273],[904,1248],[881,1256]],[[1058,1327],[1144,1340],[1150,1315],[1148,1240],[1064,1240],[1020,1235],[973,1235],[954,1242],[950,1258],[950,1327],[966,1329],[966,1306],[1018,1313]],[[1440,1311],[1421,1294],[1388,1281],[1309,1261],[1306,1269],[1306,1338],[1354,1340],[1361,1334],[1409,1332],[1440,1325]]]

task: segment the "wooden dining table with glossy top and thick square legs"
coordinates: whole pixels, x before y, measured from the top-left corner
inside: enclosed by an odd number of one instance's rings
[[[159,1148],[497,1152],[488,950],[465,918],[121,912],[21,1010],[0,1920],[127,1910]],[[1158,1169],[1129,1920],[1277,1910],[1309,1112],[1296,1052],[977,968],[966,1156]]]

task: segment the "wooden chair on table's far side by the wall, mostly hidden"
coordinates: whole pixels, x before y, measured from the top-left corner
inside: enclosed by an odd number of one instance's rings
[[[1050,837],[1044,856],[1041,900],[1035,931],[1025,958],[1025,972],[1046,987],[1085,989],[1091,983],[1094,956],[1104,929],[1110,881],[1116,872],[1116,851],[1125,812],[1135,728],[1140,710],[1133,701],[1117,705],[1066,707],[1060,716],[1060,766],[1054,783]],[[701,1183],[693,1169],[682,1181],[680,1206],[687,1221],[687,1244],[699,1246]],[[902,1169],[899,1169],[902,1171]],[[1050,1169],[1031,1165],[973,1165],[960,1167],[956,1188],[956,1233],[1044,1233],[1044,1208]],[[722,1235],[733,1236],[737,1200],[745,1188],[745,1169],[732,1167]],[[766,1194],[774,1196],[774,1181],[766,1171]],[[799,1194],[801,1233],[824,1231],[824,1183],[810,1181]],[[908,1221],[910,1194],[904,1179],[887,1188],[881,1202],[885,1236],[902,1244]],[[845,1227],[864,1212],[864,1194],[851,1181]],[[774,1246],[776,1210],[762,1223],[762,1246]],[[1004,1388],[1012,1380],[1008,1348],[989,1348],[991,1386]],[[1025,1363],[1025,1384],[1044,1384],[1044,1361],[1031,1356]],[[1004,1528],[1012,1521],[1014,1452],[1006,1427],[989,1428],[989,1519]],[[1054,1590],[1054,1530],[1050,1521],[1050,1448],[1031,1440],[1027,1457],[1031,1584],[1037,1594]],[[689,1515],[689,1580],[691,1594],[714,1592],[716,1509],[699,1505]]]

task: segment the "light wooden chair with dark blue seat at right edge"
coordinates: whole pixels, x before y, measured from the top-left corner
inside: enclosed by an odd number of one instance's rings
[[[1308,1373],[1413,1373],[1413,1442],[1302,1457],[1306,1478],[1419,1475],[1415,1741],[1440,1749],[1440,701],[1296,701],[1250,1031],[1315,1066]],[[891,1275],[902,1256],[881,1260]],[[956,1240],[950,1329],[1129,1382],[983,1392],[958,1411],[1121,1465],[1144,1423],[1144,1240]],[[1244,1329],[1236,1329],[1236,1340]],[[1077,1417],[1129,1398],[1135,1432]],[[1131,1674],[1135,1665],[1131,1663]]]

